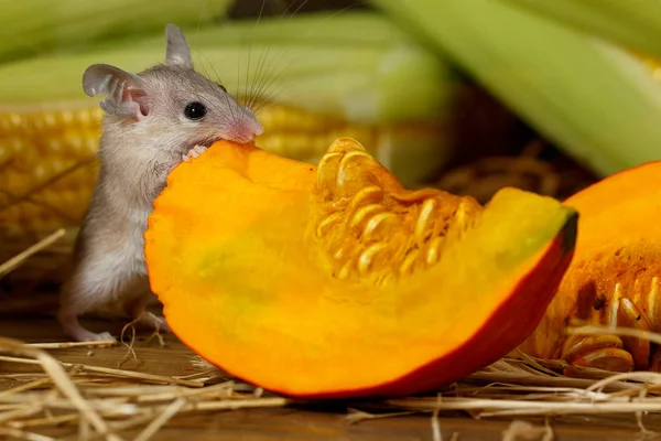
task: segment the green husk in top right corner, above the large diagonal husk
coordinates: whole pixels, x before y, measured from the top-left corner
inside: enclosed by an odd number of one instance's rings
[[[659,0],[502,0],[661,57]]]

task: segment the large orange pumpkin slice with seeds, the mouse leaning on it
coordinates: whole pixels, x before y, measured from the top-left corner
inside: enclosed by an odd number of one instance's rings
[[[503,189],[409,191],[353,139],[318,165],[215,143],[175,168],[145,233],[171,330],[228,374],[301,398],[452,383],[538,325],[577,213]]]

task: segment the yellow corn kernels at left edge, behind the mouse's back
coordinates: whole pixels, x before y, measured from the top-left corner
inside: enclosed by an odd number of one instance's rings
[[[100,108],[89,107],[0,112],[2,236],[21,236],[26,225],[35,233],[53,232],[82,218],[96,179],[95,169],[80,166],[50,184],[48,181],[94,154],[100,112]],[[36,191],[45,184],[48,185],[44,190]]]

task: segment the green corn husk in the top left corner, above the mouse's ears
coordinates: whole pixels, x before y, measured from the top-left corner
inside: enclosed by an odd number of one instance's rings
[[[0,62],[44,52],[67,52],[108,37],[198,25],[225,17],[232,0],[21,0],[0,13]]]

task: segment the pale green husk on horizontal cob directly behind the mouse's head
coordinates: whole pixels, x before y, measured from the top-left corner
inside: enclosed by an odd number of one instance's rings
[[[304,18],[303,18],[304,17]],[[373,13],[299,15],[183,28],[196,68],[240,95],[262,90],[279,104],[361,123],[443,117],[453,97],[446,66]],[[139,72],[161,63],[161,31],[98,51],[42,56],[0,66],[0,103],[83,100],[83,72],[107,63]]]

